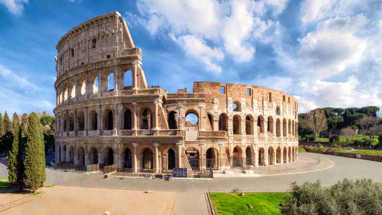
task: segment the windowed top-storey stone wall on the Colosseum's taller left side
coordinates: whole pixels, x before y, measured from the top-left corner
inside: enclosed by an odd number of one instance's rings
[[[114,11],[97,16],[72,28],[58,41],[57,77],[74,67],[98,60],[139,55],[141,51],[134,48],[126,21],[120,13]]]

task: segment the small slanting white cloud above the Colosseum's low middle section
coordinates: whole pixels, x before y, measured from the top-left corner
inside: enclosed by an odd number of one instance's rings
[[[217,73],[222,72],[222,67],[212,62],[212,59],[222,60],[224,58],[224,54],[220,49],[211,49],[206,45],[203,38],[192,35],[178,38],[172,35],[172,39],[180,44],[189,55],[204,62],[209,70]]]

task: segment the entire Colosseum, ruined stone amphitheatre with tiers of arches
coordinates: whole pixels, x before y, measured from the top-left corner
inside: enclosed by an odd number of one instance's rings
[[[57,163],[192,174],[298,160],[295,98],[234,83],[198,81],[192,93],[148,85],[117,11],[74,27],[56,49]]]

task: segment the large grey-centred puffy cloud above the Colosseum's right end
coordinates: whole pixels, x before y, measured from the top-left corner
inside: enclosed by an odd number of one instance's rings
[[[367,47],[367,39],[356,36],[367,23],[365,16],[331,18],[317,24],[316,30],[298,39],[300,71],[326,78],[343,72],[350,65],[358,64]]]

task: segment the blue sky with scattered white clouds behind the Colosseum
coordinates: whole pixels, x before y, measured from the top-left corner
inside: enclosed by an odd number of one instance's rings
[[[52,113],[55,45],[117,10],[149,85],[266,86],[318,107],[382,108],[380,0],[0,0],[0,112]]]

